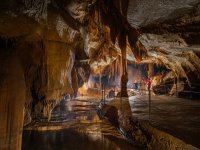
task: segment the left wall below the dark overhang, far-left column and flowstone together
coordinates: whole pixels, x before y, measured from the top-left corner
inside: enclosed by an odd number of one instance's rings
[[[1,45],[12,41],[2,39]],[[28,37],[9,45],[0,50],[0,149],[21,149],[23,125],[49,120],[56,104],[73,93],[74,53],[66,43]]]

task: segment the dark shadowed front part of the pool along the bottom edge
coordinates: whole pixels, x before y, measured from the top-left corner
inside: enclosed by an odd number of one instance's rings
[[[88,134],[74,129],[23,134],[24,150],[133,150],[127,141],[112,135]]]

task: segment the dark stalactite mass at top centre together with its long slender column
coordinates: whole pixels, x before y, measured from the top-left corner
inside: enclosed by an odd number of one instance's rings
[[[128,0],[127,0],[128,1]],[[126,1],[126,2],[127,2]],[[127,42],[129,42],[130,47],[132,49],[133,54],[137,60],[141,60],[142,55],[145,51],[144,46],[138,41],[140,33],[137,29],[130,26],[127,22],[125,15],[127,13],[128,5],[122,1],[113,2],[112,0],[104,2],[99,1],[98,3],[98,11],[99,17],[101,18],[101,22],[110,28],[110,39],[115,44],[116,39],[118,41],[118,45],[121,49],[122,58],[120,59],[120,64],[118,64],[120,77],[121,77],[121,92],[123,91],[123,96],[127,95],[127,58],[126,58],[126,46]],[[114,4],[120,4],[119,8],[116,8]],[[122,13],[120,12],[122,11]],[[120,18],[120,20],[119,20]],[[127,38],[128,37],[128,38]],[[127,40],[128,39],[128,40]],[[133,49],[134,48],[134,49]],[[123,83],[122,83],[123,82]],[[122,90],[123,89],[123,90]]]

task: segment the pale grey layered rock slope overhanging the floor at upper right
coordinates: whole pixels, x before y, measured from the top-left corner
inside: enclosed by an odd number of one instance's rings
[[[161,64],[171,70],[174,78],[183,83],[184,88],[181,86],[179,90],[198,89],[200,83],[198,0],[129,0],[127,20],[131,26],[142,31],[140,41],[147,50],[144,62]]]

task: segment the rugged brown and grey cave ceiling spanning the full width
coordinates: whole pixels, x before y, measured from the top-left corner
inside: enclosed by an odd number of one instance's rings
[[[1,3],[2,37],[67,44],[78,61],[91,67],[106,66],[126,50],[129,61],[163,64],[188,82],[188,72],[200,74],[199,0]]]

